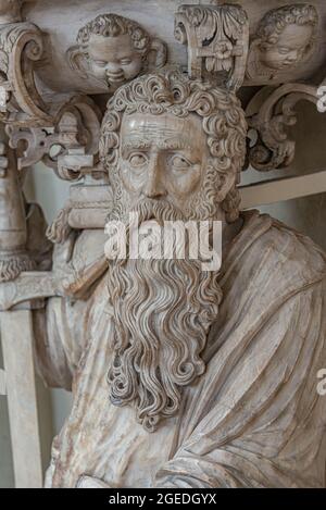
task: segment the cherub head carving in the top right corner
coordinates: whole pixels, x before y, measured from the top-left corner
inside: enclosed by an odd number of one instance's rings
[[[317,26],[318,14],[313,5],[299,3],[267,12],[251,46],[250,77],[273,75],[303,63],[314,48]]]

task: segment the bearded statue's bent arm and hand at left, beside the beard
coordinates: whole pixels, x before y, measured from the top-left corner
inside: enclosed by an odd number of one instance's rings
[[[62,297],[50,298],[46,313],[35,312],[38,365],[49,386],[72,388],[97,308],[97,283],[108,268],[102,246],[101,231],[83,231],[77,239],[71,233],[55,245],[52,275]]]

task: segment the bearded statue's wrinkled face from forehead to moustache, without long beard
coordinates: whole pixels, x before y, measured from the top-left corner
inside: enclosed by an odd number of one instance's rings
[[[206,137],[197,114],[124,115],[120,172],[129,208],[165,200],[188,216],[208,162]]]

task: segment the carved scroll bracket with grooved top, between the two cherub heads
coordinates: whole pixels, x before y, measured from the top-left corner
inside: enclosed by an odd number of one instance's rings
[[[249,21],[239,5],[181,5],[175,16],[175,37],[188,45],[193,78],[210,73],[237,90],[243,83],[249,46]]]

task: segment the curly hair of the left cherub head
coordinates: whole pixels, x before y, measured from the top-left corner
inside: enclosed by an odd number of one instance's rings
[[[78,32],[77,42],[86,49],[91,35],[118,37],[126,34],[130,36],[135,50],[147,55],[150,50],[150,37],[147,32],[138,23],[117,14],[101,14],[87,23]]]

